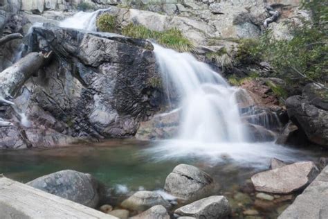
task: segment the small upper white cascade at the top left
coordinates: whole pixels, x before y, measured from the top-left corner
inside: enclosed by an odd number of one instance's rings
[[[60,27],[63,28],[75,28],[89,31],[97,31],[96,21],[100,12],[109,10],[99,9],[95,12],[77,12],[72,17],[68,17],[60,22]]]

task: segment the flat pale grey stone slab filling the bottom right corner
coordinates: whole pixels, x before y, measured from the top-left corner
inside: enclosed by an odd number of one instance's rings
[[[278,219],[328,218],[328,167],[295,199]]]

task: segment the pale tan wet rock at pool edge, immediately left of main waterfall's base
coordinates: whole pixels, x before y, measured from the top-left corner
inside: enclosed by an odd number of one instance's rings
[[[136,139],[172,139],[178,133],[180,110],[155,115],[149,121],[140,123]]]

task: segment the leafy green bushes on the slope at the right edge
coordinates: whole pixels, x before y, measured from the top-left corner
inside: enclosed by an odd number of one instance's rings
[[[305,20],[302,25],[289,24],[293,33],[291,40],[276,40],[270,31],[266,31],[259,40],[243,40],[236,60],[242,64],[265,60],[274,67],[277,77],[289,82],[297,83],[304,79],[325,82],[328,76],[325,28],[328,3],[313,0],[304,3],[303,7],[312,10],[314,24]]]

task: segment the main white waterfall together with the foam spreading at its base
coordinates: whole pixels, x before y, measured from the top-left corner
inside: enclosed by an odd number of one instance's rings
[[[156,44],[154,53],[163,80],[173,82],[178,89],[182,108],[177,137],[158,141],[158,146],[147,150],[155,160],[189,157],[263,166],[272,157],[284,161],[305,158],[301,152],[273,142],[248,142],[235,96],[239,89],[230,87],[207,64],[188,53],[177,53]]]

